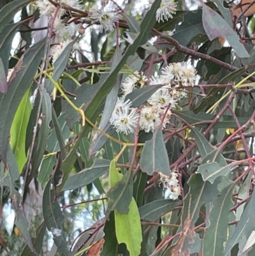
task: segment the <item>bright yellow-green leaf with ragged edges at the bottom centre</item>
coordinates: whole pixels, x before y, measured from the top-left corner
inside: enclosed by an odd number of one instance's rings
[[[142,228],[140,215],[135,199],[132,198],[128,215],[117,213],[115,215],[115,232],[118,243],[125,243],[130,256],[140,255],[142,243]]]

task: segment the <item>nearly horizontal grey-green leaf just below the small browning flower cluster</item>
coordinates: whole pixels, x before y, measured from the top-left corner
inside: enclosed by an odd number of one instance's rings
[[[148,220],[149,222],[154,222],[164,214],[173,210],[174,207],[181,206],[182,201],[171,200],[171,199],[161,199],[154,200],[149,204],[139,208],[139,213],[142,220]]]

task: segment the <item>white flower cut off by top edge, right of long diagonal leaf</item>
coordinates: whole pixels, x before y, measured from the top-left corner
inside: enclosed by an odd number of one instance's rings
[[[150,0],[149,2],[152,4],[154,0]],[[176,11],[174,0],[161,0],[161,4],[156,12],[157,22],[160,22],[161,20],[164,22],[164,20],[171,19],[173,17],[172,13],[175,13]]]

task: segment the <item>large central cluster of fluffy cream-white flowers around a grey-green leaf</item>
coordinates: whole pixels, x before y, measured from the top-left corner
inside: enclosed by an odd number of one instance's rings
[[[163,128],[170,121],[171,109],[174,109],[180,99],[187,97],[184,88],[193,86],[196,79],[196,70],[186,63],[172,63],[163,68],[159,77],[152,77],[148,81],[142,72],[128,75],[122,82],[122,98],[117,100],[117,105],[112,113],[110,123],[117,132],[125,134],[135,132],[139,123],[139,130],[152,132],[162,123]],[[162,85],[145,104],[139,109],[132,108],[132,103],[125,102],[127,94],[143,86]],[[120,111],[121,109],[121,111]],[[138,118],[140,115],[140,119]],[[139,122],[138,122],[139,120]]]

